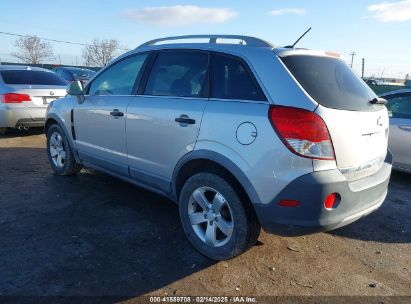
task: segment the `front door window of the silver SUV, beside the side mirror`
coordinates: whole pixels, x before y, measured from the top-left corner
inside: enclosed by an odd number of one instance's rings
[[[146,58],[140,54],[115,63],[91,83],[88,95],[131,95]]]

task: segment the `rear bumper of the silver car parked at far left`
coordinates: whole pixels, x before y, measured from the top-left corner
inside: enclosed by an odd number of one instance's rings
[[[42,127],[46,117],[46,108],[0,108],[0,127],[16,128],[19,126]]]

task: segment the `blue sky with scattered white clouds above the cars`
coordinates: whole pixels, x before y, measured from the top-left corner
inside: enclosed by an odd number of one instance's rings
[[[365,76],[411,75],[411,0],[1,0],[0,32],[90,43],[117,39],[141,43],[186,34],[240,34],[336,51]],[[408,38],[407,38],[408,37]],[[18,37],[0,34],[0,60],[16,61]],[[82,64],[83,46],[50,42],[54,63]],[[120,50],[121,52],[121,50]]]

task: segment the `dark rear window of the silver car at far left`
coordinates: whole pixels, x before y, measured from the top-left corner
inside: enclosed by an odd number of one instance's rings
[[[67,83],[52,72],[43,71],[2,71],[0,72],[5,84],[31,84],[31,85],[61,85]]]

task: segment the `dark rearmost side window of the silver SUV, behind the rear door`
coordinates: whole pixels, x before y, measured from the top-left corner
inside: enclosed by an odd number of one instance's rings
[[[212,98],[266,100],[257,81],[239,59],[213,55]]]

